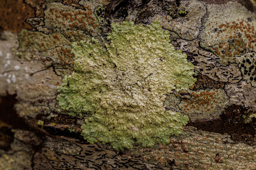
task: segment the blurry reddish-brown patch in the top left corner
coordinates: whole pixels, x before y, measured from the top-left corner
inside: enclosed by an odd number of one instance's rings
[[[27,18],[36,17],[36,14],[35,9],[24,4],[23,0],[3,0],[0,6],[0,16],[0,27],[3,30],[18,33],[22,29],[32,29],[25,21]]]

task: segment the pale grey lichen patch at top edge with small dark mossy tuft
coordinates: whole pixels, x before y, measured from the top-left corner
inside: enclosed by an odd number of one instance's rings
[[[200,33],[201,20],[206,14],[206,7],[200,1],[180,1],[179,8],[169,10],[167,14],[163,16],[161,13],[156,13],[152,18],[159,20],[164,29],[171,31],[172,38],[195,40]]]

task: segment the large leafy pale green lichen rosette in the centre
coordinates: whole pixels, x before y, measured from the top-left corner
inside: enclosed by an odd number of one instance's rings
[[[175,51],[158,21],[113,24],[107,38],[106,47],[94,38],[72,44],[75,72],[58,87],[60,107],[70,115],[92,114],[81,126],[90,143],[111,143],[117,150],[132,148],[134,140],[143,147],[168,143],[189,119],[165,111],[164,94],[193,85],[193,65]]]

